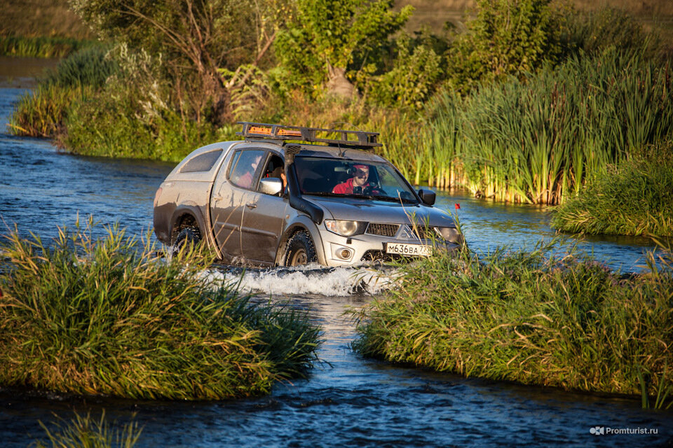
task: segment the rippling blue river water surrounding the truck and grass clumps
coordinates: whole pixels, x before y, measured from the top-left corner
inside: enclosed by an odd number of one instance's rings
[[[23,87],[0,88],[0,123],[8,122]],[[0,226],[18,227],[43,240],[57,225],[93,215],[102,225],[121,223],[130,235],[151,230],[154,192],[172,164],[67,155],[49,141],[0,129]],[[555,232],[547,209],[493,204],[440,193],[439,207],[456,211],[471,248],[531,248]],[[102,232],[102,227],[100,227]],[[566,244],[572,244],[573,240]],[[638,271],[646,239],[580,241],[613,269]],[[559,248],[562,250],[563,246]],[[233,276],[214,270],[213,275]],[[309,310],[323,329],[311,377],[278,384],[262,398],[217,402],[82,398],[0,388],[0,442],[25,447],[43,437],[48,423],[73,412],[134,419],[144,429],[139,447],[638,447],[669,446],[673,412],[640,408],[639,398],[573,393],[501,381],[465,379],[363,359],[349,344],[356,337],[344,311],[360,307],[386,288],[355,269],[265,269],[248,272],[242,288],[289,300]],[[369,279],[369,277],[367,277]],[[355,292],[353,290],[355,289]],[[293,293],[290,294],[289,292]],[[359,291],[359,292],[358,292]],[[0,366],[1,368],[1,366]],[[48,423],[50,424],[50,423]],[[595,426],[655,430],[657,434],[592,435]]]

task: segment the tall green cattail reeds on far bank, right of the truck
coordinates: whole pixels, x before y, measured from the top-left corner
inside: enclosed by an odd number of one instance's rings
[[[439,94],[412,149],[424,160],[419,180],[496,200],[562,202],[630,151],[670,135],[671,69],[606,50],[468,97]],[[399,153],[395,165],[409,165]]]

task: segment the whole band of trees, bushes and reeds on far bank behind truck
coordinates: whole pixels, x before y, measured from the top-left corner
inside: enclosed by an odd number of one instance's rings
[[[615,9],[479,0],[464,31],[412,35],[390,0],[73,5],[116,70],[46,80],[11,126],[74,153],[177,161],[236,120],[342,123],[414,183],[560,204],[673,129],[665,45]]]

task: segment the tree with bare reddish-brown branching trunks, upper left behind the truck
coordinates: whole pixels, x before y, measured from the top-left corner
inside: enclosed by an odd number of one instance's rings
[[[278,29],[283,0],[71,0],[88,25],[106,38],[162,57],[163,75],[182,80],[180,90],[200,117],[208,99],[213,121],[229,118],[229,85],[218,69],[258,64]]]

